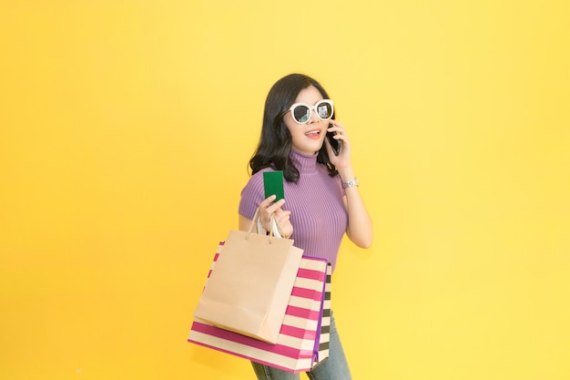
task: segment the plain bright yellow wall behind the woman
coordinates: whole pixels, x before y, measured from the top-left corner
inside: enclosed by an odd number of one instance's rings
[[[0,378],[253,378],[186,338],[296,71],[375,223],[334,276],[354,378],[570,378],[570,8],[504,3],[3,2]]]

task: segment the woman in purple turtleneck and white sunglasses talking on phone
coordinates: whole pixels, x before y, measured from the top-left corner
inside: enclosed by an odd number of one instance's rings
[[[258,148],[249,161],[251,178],[241,192],[239,229],[248,231],[259,209],[264,230],[273,216],[280,236],[307,256],[331,262],[334,271],[344,233],[361,248],[372,244],[372,221],[351,165],[351,142],[333,118],[333,103],[311,77],[291,74],[270,89]],[[332,149],[327,132],[338,141]],[[336,145],[336,144],[335,144]],[[338,154],[335,154],[338,153]],[[264,199],[263,171],[282,170],[285,200]],[[291,374],[252,363],[258,379],[294,380]],[[329,359],[308,373],[314,380],[349,380],[351,373],[331,318]]]

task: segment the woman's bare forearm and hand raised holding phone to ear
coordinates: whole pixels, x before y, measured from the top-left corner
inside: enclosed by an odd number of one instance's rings
[[[329,128],[331,132],[337,132],[335,139],[342,141],[341,153],[335,156],[331,149],[331,144],[326,141],[327,151],[331,158],[331,163],[339,171],[342,182],[355,180],[354,171],[351,165],[351,144],[346,136],[346,131],[341,123],[336,120],[331,120],[332,127]],[[346,233],[356,245],[361,248],[369,248],[372,245],[373,231],[372,219],[366,210],[364,200],[362,200],[361,193],[357,186],[351,186],[345,190],[344,204],[349,214],[349,225]]]

